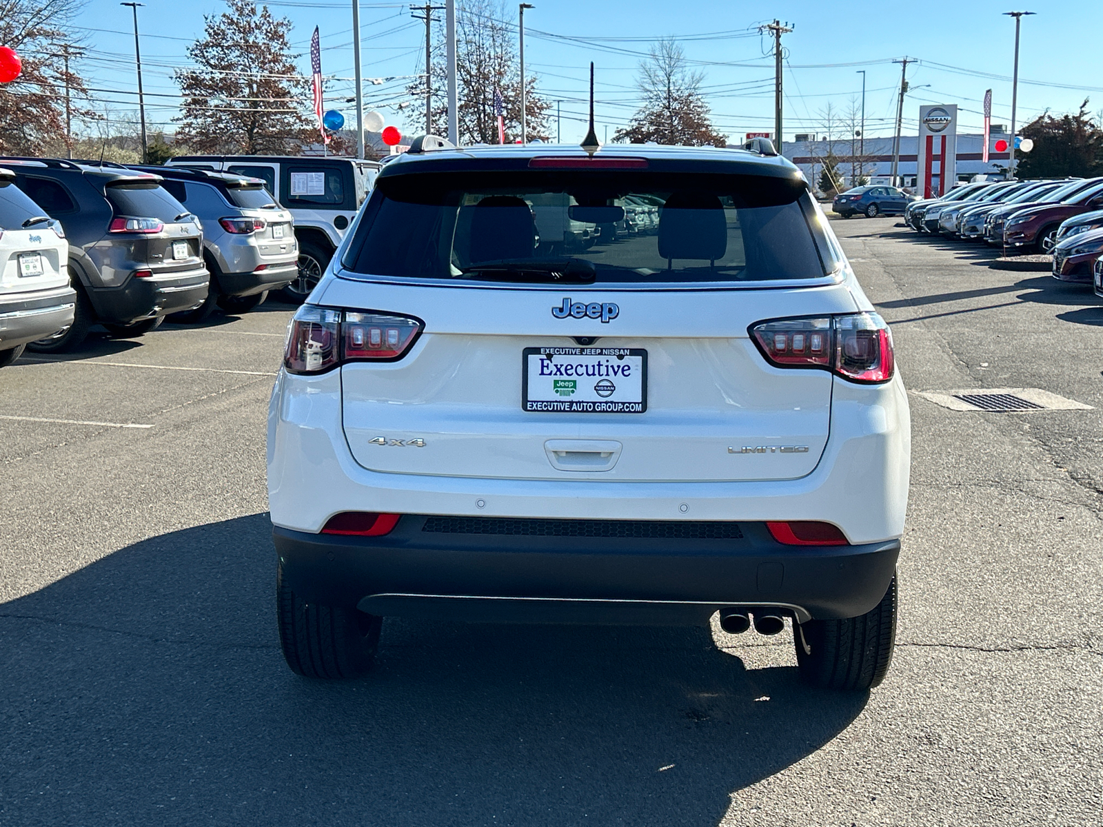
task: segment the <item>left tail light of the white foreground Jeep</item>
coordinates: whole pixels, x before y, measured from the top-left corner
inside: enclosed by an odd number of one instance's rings
[[[320,374],[345,362],[395,362],[422,330],[425,322],[411,316],[303,304],[288,326],[283,367]]]

